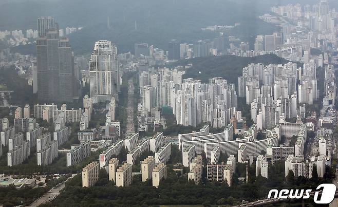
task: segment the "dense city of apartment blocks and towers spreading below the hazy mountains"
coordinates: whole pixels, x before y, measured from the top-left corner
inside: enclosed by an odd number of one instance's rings
[[[337,184],[338,12],[257,20],[274,31],[253,42],[205,25],[213,39],[123,53],[72,52],[86,28],[51,16],[0,31],[0,205],[318,206],[267,196]]]

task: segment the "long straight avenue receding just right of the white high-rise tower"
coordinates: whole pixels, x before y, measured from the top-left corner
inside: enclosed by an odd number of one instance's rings
[[[134,82],[133,79],[128,80],[128,103],[127,103],[127,124],[126,135],[134,134]]]

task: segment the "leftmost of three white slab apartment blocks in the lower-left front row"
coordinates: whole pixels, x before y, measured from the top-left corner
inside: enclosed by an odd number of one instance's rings
[[[23,163],[30,155],[30,144],[25,140],[22,145],[16,146],[7,153],[7,165],[14,166]]]

